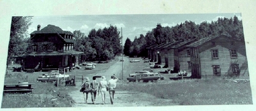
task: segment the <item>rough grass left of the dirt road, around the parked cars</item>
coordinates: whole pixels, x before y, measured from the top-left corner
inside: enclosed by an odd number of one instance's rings
[[[108,64],[97,64],[93,70],[76,69],[70,71],[70,78],[76,76],[76,81],[81,80],[81,75],[92,76],[96,72],[104,71],[108,69],[116,61],[112,61]],[[17,67],[17,65],[14,65]],[[68,95],[68,92],[78,90],[75,87],[56,87],[54,83],[37,82],[38,75],[47,72],[12,72],[9,66],[9,74],[5,77],[5,84],[17,84],[19,81],[28,80],[29,83],[33,83],[32,88],[35,88],[32,94],[5,94],[2,100],[2,108],[19,108],[19,107],[72,107],[74,101]],[[26,77],[28,76],[28,79]]]

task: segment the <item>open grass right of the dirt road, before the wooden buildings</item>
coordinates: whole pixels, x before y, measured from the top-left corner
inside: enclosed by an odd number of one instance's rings
[[[130,67],[125,67],[124,70],[134,73],[148,66],[148,63],[130,63]],[[157,82],[128,82],[128,84],[126,81],[119,82],[118,89],[144,92],[158,98],[172,99],[175,104],[179,105],[252,104],[249,82],[237,84],[227,81],[223,77],[170,80],[168,77],[174,76],[174,74],[162,75],[165,76],[165,80]]]

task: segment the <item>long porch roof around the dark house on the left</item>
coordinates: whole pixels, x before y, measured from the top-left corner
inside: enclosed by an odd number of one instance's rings
[[[26,56],[64,56],[64,55],[76,55],[76,54],[82,54],[84,52],[82,51],[75,51],[75,50],[69,50],[69,51],[52,51],[52,52],[27,52],[19,57],[26,57]]]

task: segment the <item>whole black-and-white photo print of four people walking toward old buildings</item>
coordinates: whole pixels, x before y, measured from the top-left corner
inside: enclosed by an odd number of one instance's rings
[[[253,105],[243,17],[12,15],[1,108]]]

